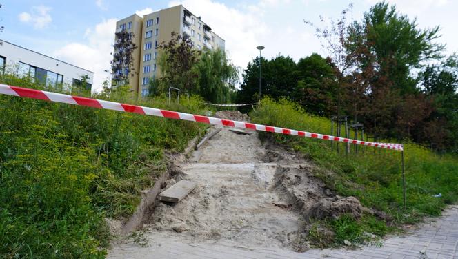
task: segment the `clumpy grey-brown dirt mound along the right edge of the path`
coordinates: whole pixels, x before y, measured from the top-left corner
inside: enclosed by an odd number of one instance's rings
[[[279,193],[283,206],[299,211],[305,220],[338,218],[345,213],[361,217],[364,208],[357,198],[335,195],[312,175],[312,169],[310,165],[277,167],[272,188]]]

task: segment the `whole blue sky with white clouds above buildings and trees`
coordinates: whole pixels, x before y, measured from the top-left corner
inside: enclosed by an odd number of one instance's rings
[[[388,0],[417,19],[418,28],[441,27],[447,54],[458,52],[458,0]],[[353,3],[351,19],[360,21],[377,0],[0,0],[0,39],[94,71],[92,90],[110,78],[115,24],[137,14],[183,4],[226,40],[231,61],[243,71],[262,45],[262,56],[295,60],[321,50],[315,30],[304,20],[337,19]]]

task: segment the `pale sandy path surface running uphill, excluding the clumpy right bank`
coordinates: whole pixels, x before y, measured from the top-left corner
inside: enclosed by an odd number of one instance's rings
[[[223,128],[195,154],[197,162],[183,165],[180,178],[197,182],[197,189],[178,204],[157,206],[148,240],[154,243],[166,234],[182,242],[290,247],[299,215],[276,205],[279,197],[269,187],[277,164],[262,162],[265,152],[257,133],[237,135]],[[122,249],[132,245],[114,247],[109,258],[123,258]]]

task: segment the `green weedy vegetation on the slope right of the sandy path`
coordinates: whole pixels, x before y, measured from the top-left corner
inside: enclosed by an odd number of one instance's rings
[[[315,133],[330,133],[330,121],[312,116],[298,104],[281,99],[275,102],[265,98],[250,113],[259,124],[281,126]],[[383,211],[384,220],[367,216],[356,220],[345,215],[338,219],[315,222],[319,227],[310,229],[310,238],[317,244],[343,243],[344,240],[361,242],[368,231],[383,235],[395,230],[392,226],[417,222],[426,215],[440,215],[446,204],[458,200],[458,158],[437,155],[418,144],[404,145],[406,157],[407,209],[404,210],[401,178],[401,153],[368,147],[358,154],[332,150],[331,142],[279,134],[264,134],[277,142],[299,151],[317,164],[315,175],[328,188],[343,196],[355,196],[365,207]],[[352,146],[353,148],[353,146]],[[435,197],[441,193],[441,197]],[[333,238],[326,240],[317,229],[333,229]],[[321,235],[321,236],[320,236]]]

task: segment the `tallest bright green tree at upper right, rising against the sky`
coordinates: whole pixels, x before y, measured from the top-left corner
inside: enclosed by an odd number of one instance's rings
[[[384,2],[370,8],[361,22],[355,21],[350,32],[350,39],[362,40],[349,41],[348,49],[355,50],[361,47],[361,43],[366,44],[372,55],[366,57],[373,57],[372,61],[359,59],[359,66],[374,65],[380,76],[388,77],[402,95],[417,93],[412,70],[427,61],[439,59],[444,50],[444,45],[434,42],[439,37],[439,26],[421,30],[417,28],[416,19],[410,21],[406,15],[399,14],[395,6]]]

